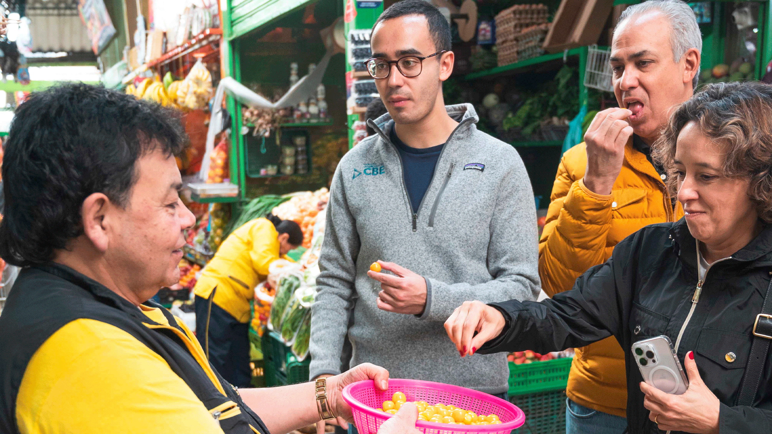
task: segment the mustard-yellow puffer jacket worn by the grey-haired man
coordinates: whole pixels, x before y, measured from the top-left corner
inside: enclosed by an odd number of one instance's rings
[[[672,208],[664,181],[631,140],[611,195],[596,195],[584,186],[586,167],[582,143],[566,151],[557,168],[539,240],[539,276],[550,297],[570,290],[578,276],[604,263],[631,233],[683,215],[680,203]],[[625,356],[614,337],[577,348],[566,394],[577,404],[625,417]]]

